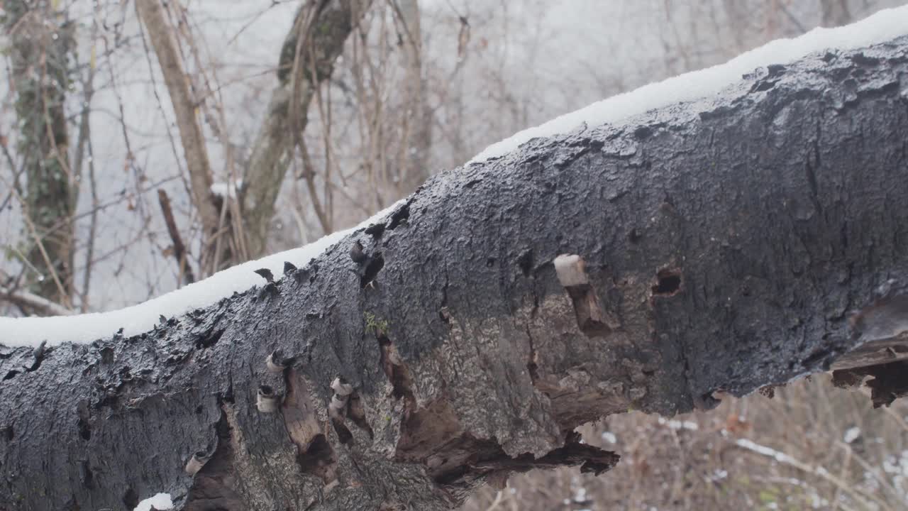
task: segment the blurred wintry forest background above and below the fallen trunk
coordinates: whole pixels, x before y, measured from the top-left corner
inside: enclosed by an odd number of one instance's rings
[[[130,306],[310,243],[549,118],[890,0],[0,0],[0,314]],[[327,20],[327,21],[326,21]],[[770,184],[767,184],[770,185]],[[908,406],[814,376],[583,426],[604,476],[464,509],[908,507]]]

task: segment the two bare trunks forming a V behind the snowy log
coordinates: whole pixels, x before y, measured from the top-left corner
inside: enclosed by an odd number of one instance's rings
[[[212,170],[202,139],[198,108],[202,100],[192,94],[173,27],[167,23],[160,0],[136,2],[161,63],[187,156],[193,204],[200,212],[204,233],[202,275],[262,255],[294,149],[299,146],[305,152],[302,131],[311,98],[331,77],[334,61],[369,4],[363,0],[319,0],[301,5],[281,48],[278,85],[252,147],[249,166],[242,180],[234,176],[226,184],[229,192],[217,195],[212,194]],[[330,232],[331,224],[318,204],[318,196],[311,198],[322,227]]]

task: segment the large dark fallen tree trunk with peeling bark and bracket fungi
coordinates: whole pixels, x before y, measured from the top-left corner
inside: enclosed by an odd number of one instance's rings
[[[758,70],[438,175],[145,335],[5,348],[0,507],[448,509],[513,470],[607,470],[573,433],[597,417],[897,336],[906,75],[906,38]]]

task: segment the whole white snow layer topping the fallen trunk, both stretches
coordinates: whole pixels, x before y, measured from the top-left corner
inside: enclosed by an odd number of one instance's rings
[[[635,91],[562,115],[544,125],[521,131],[498,144],[490,145],[474,157],[472,162],[506,154],[533,137],[566,133],[584,122],[590,126],[617,124],[628,116],[653,108],[714,95],[758,66],[790,63],[804,55],[829,48],[852,49],[873,45],[905,34],[908,34],[908,6],[881,11],[853,25],[834,29],[817,28],[795,39],[776,40],[724,65],[645,85]],[[386,215],[393,207],[394,205],[360,226]],[[194,308],[209,306],[222,297],[231,296],[234,291],[243,291],[261,284],[261,277],[253,273],[255,269],[269,268],[272,274],[279,276],[284,261],[290,261],[298,267],[305,266],[312,257],[321,254],[348,232],[350,231],[327,235],[301,248],[233,266],[201,282],[137,306],[80,316],[0,317],[0,344],[37,346],[47,341],[53,346],[64,342],[88,343],[97,338],[112,336],[121,327],[125,336],[140,334],[151,329],[159,321],[159,316],[179,316]]]

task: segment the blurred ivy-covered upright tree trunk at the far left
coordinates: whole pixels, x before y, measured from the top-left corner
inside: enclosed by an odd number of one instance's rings
[[[69,165],[64,98],[69,87],[73,26],[49,5],[5,0],[10,82],[15,89],[18,150],[27,186],[24,252],[32,293],[70,305],[73,294],[73,213],[78,186]],[[38,314],[41,309],[33,309]]]

